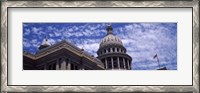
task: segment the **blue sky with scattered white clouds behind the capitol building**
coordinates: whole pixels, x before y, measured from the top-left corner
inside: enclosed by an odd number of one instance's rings
[[[53,45],[68,40],[97,56],[108,23],[23,23],[23,50],[35,54],[47,36]],[[177,23],[111,23],[132,57],[133,70],[177,69]]]

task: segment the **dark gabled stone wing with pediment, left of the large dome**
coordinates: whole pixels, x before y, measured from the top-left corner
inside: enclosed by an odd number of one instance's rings
[[[35,55],[23,53],[24,70],[103,70],[103,63],[67,41],[39,50]]]

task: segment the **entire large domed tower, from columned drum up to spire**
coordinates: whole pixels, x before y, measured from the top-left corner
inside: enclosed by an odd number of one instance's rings
[[[106,30],[107,35],[101,40],[97,58],[101,60],[106,70],[131,70],[132,58],[126,54],[122,41],[113,34],[110,24]]]

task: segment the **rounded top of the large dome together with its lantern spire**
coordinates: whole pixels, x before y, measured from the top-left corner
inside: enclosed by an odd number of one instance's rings
[[[122,41],[118,37],[113,35],[112,26],[108,25],[107,35],[101,40],[100,48],[111,44],[123,46]]]

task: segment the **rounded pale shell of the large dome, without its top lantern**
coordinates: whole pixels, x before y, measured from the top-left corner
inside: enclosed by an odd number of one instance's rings
[[[102,39],[100,47],[107,46],[110,44],[123,46],[122,41],[118,37],[114,36],[113,34],[108,34]]]

